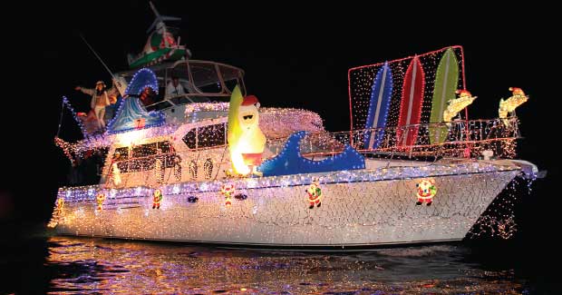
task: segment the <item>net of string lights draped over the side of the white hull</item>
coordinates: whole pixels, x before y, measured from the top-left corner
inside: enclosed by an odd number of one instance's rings
[[[461,239],[481,211],[518,173],[515,166],[485,162],[327,172],[322,175],[319,185],[322,185],[322,193],[329,194],[330,198],[322,201],[322,210],[318,213],[303,213],[297,209],[309,206],[303,193],[313,183],[315,174],[228,181],[237,192],[248,196],[244,202],[237,198],[217,198],[224,181],[163,185],[160,189],[167,195],[166,204],[174,210],[162,211],[165,215],[160,214],[158,218],[198,224],[197,229],[187,229],[173,222],[166,227],[156,225],[155,217],[150,213],[145,215],[143,209],[153,205],[151,194],[154,189],[150,188],[114,190],[111,202],[104,205],[99,214],[104,219],[111,219],[111,235],[128,238],[302,245],[318,241],[336,244],[388,241],[389,236],[393,241],[409,241],[412,235],[423,237],[423,232],[431,232],[437,237]],[[427,206],[416,209],[412,192],[416,189],[415,183],[424,178],[435,179],[440,187],[439,198],[433,200],[431,209]],[[251,189],[248,188],[250,182]],[[89,202],[92,207],[95,202],[88,193],[90,189],[103,190],[99,186],[89,186],[59,191],[59,198],[65,198],[69,204],[64,212],[65,221],[57,226],[59,231],[86,235],[97,232],[101,225],[92,217],[93,210],[83,210]],[[369,196],[364,192],[370,192]],[[194,199],[189,197],[197,197],[199,202],[192,202]],[[221,204],[227,205],[228,201],[230,210],[221,211]],[[342,206],[343,202],[345,206]],[[347,207],[354,209],[344,209]],[[435,214],[434,210],[440,213]],[[373,212],[377,213],[373,215]],[[322,218],[316,214],[322,214]],[[247,226],[225,227],[221,222],[240,220]],[[302,231],[313,228],[314,238]],[[335,232],[345,234],[334,239]],[[305,237],[313,240],[301,240]]]

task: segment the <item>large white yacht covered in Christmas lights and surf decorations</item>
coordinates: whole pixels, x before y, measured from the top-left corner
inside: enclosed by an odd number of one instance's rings
[[[66,235],[298,250],[460,241],[490,220],[483,212],[510,182],[538,175],[513,160],[513,115],[470,120],[465,103],[451,122],[431,114],[430,123],[422,105],[435,96],[446,109],[455,97],[444,93],[466,90],[462,54],[455,45],[350,69],[351,128],[339,133],[317,113],[261,107],[266,99],[248,95],[232,65],[185,58],[118,73],[128,86],[107,129],[55,139],[71,162],[104,160],[99,183],[59,189],[49,225]],[[443,56],[458,75],[439,79],[456,79],[456,89],[431,81]],[[187,93],[166,92],[171,76]]]

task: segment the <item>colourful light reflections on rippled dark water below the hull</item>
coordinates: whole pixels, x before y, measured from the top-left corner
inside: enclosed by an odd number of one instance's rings
[[[53,237],[53,294],[411,294],[525,292],[512,270],[482,270],[460,246],[351,254],[241,251]]]

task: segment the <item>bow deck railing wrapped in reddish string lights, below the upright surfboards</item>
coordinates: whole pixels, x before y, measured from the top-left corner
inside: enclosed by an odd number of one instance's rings
[[[482,152],[491,151],[498,158],[513,158],[518,137],[518,119],[510,117],[309,133],[300,147],[307,156],[342,152],[349,144],[358,152],[373,156],[480,158]],[[270,146],[283,146],[286,137],[268,142]]]

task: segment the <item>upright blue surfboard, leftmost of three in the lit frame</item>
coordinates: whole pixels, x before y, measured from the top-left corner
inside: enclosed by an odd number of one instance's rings
[[[371,91],[371,102],[365,129],[379,128],[377,131],[367,131],[363,139],[366,150],[376,149],[383,142],[386,116],[392,99],[392,72],[388,62],[383,64],[374,76]]]

